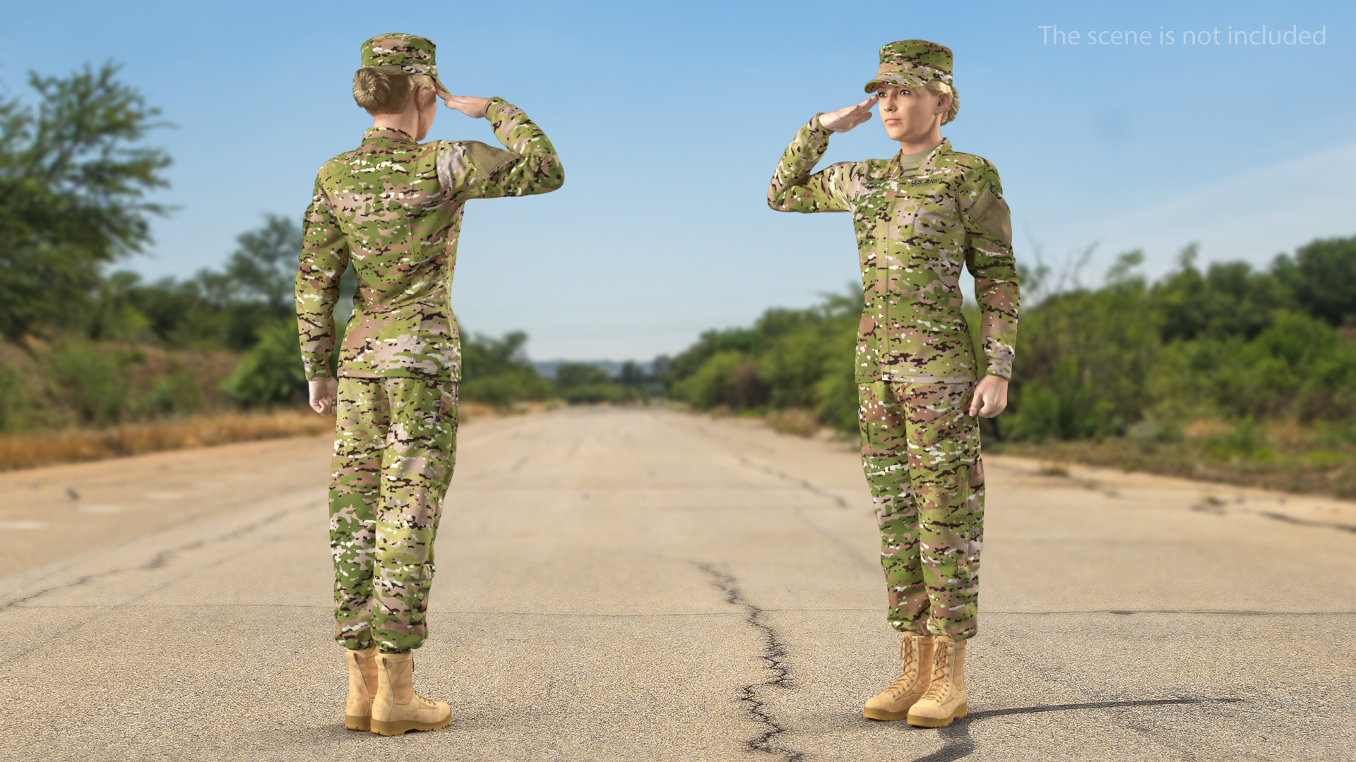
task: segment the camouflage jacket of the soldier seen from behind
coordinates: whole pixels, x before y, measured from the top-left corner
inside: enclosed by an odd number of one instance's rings
[[[320,168],[296,289],[308,380],[330,376],[332,312],[350,260],[358,293],[339,376],[461,380],[447,294],[465,202],[549,193],[565,182],[556,149],[522,110],[492,98],[485,117],[509,151],[476,141],[416,144],[401,130],[374,127],[357,151]]]

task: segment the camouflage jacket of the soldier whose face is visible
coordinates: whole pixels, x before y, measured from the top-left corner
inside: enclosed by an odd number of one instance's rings
[[[987,373],[1009,378],[1017,340],[1017,266],[998,171],[942,141],[915,172],[899,156],[811,174],[829,149],[816,115],[800,129],[767,188],[778,212],[852,212],[865,306],[857,380],[978,380],[961,313],[961,264],[975,278]]]

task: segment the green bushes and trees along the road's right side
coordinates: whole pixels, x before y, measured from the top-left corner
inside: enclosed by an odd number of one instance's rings
[[[1121,255],[1100,287],[1025,268],[1009,408],[989,452],[1356,496],[1356,237],[1262,270],[1196,266],[1150,283]],[[709,331],[663,376],[697,409],[857,431],[860,293]],[[972,332],[978,309],[967,306]],[[980,358],[983,361],[983,358]],[[807,419],[812,416],[815,424]]]

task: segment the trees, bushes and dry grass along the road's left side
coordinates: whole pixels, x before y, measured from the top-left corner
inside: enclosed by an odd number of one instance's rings
[[[151,201],[171,157],[148,145],[168,125],[114,65],[28,85],[0,100],[0,468],[327,430],[305,407],[298,222],[264,216],[221,268],[188,278],[119,270],[171,212]],[[340,342],[355,290],[350,267]],[[565,365],[548,381],[526,343],[464,336],[461,399],[507,411],[656,392],[635,363],[620,378]]]

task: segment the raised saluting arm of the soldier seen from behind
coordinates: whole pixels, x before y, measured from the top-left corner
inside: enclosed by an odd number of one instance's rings
[[[439,92],[449,108],[490,119],[509,151],[479,141],[445,144],[438,179],[452,198],[498,198],[551,193],[565,183],[565,171],[546,133],[522,108],[503,98],[469,98]]]

